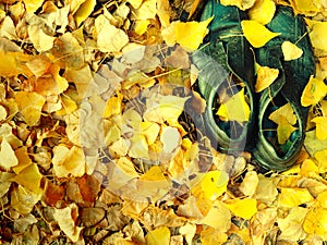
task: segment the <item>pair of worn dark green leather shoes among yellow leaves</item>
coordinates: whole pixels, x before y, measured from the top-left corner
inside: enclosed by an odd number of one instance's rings
[[[266,27],[280,35],[254,49],[241,27],[241,22],[247,19],[245,12],[222,5],[219,0],[209,0],[201,19],[210,16],[214,20],[209,34],[192,59],[201,71],[198,90],[207,101],[204,122],[211,143],[229,154],[250,150],[264,169],[289,169],[296,161],[305,137],[308,108],[301,106],[301,95],[315,73],[313,49],[303,19],[295,16],[291,8],[278,5]],[[283,41],[296,44],[303,54],[284,61]],[[261,93],[254,91],[255,62],[279,70],[275,82]],[[223,106],[231,100],[234,100],[231,106]],[[269,115],[284,105],[291,106],[296,130],[281,144],[278,124]],[[221,117],[223,113],[226,119]]]

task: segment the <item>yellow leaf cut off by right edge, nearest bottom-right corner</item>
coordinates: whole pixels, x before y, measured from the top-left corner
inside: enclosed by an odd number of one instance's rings
[[[303,222],[303,229],[308,234],[316,234],[327,238],[327,209],[312,208]]]

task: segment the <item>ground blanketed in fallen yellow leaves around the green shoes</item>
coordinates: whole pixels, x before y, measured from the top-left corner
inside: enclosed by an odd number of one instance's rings
[[[327,2],[221,2],[256,26],[276,4],[306,17],[317,73],[298,163],[263,174],[210,145],[190,59],[201,1],[1,0],[0,244],[327,241]]]

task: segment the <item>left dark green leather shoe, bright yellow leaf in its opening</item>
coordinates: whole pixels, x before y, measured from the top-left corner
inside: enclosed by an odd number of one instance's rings
[[[209,0],[202,21],[215,16],[204,45],[193,53],[193,63],[201,71],[198,90],[207,102],[204,122],[211,145],[225,152],[240,152],[247,146],[247,134],[254,124],[254,58],[242,35],[245,13],[237,7],[225,7]],[[249,121],[223,121],[216,114],[221,103],[241,89],[250,107]],[[235,108],[235,110],[243,110]],[[242,111],[241,111],[242,112]]]

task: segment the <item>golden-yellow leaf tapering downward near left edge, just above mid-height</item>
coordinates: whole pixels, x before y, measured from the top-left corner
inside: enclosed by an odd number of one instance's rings
[[[25,122],[29,126],[35,126],[39,121],[46,99],[35,91],[17,91],[15,101]]]

